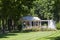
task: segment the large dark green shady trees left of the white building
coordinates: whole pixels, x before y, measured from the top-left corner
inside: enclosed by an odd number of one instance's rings
[[[20,17],[30,14],[30,9],[33,7],[33,1],[35,0],[1,0],[0,16],[3,24],[5,19],[8,20],[9,31],[11,31],[10,27],[12,25],[12,20],[14,20],[15,26]]]

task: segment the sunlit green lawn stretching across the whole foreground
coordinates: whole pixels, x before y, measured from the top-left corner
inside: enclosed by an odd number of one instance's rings
[[[0,34],[0,40],[59,40],[60,31]]]

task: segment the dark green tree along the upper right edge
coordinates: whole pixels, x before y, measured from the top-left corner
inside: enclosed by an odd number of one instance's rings
[[[54,0],[54,18],[56,21],[60,21],[60,0]]]

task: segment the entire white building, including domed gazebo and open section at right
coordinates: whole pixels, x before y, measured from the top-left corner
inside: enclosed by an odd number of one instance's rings
[[[39,27],[39,28],[56,29],[54,21],[52,21],[52,20],[41,20],[38,17],[25,16],[22,18],[22,22],[23,22],[22,28]],[[47,22],[47,26],[42,26],[42,22]]]

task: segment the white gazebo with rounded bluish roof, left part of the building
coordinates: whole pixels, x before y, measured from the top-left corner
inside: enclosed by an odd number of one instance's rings
[[[32,27],[40,27],[40,18],[33,16],[25,16],[22,18],[23,28],[32,28]]]

